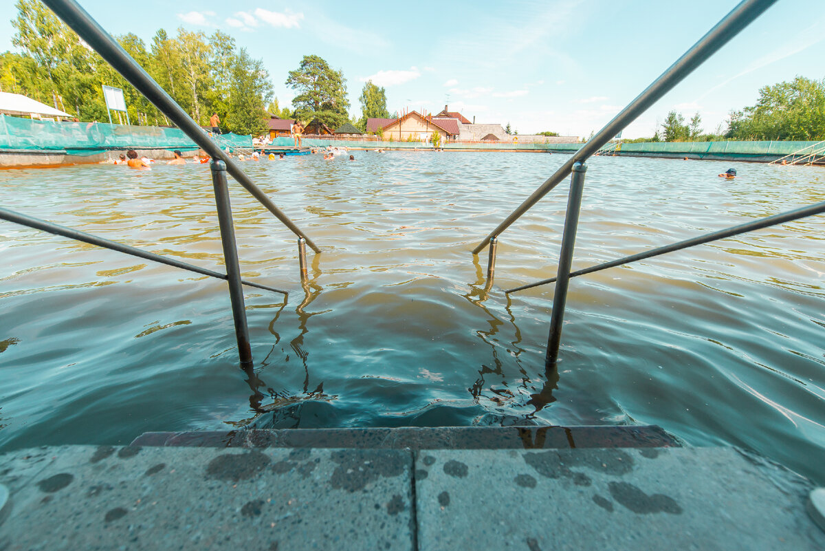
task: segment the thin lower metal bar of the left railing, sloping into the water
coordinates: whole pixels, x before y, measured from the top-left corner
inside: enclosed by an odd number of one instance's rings
[[[7,220],[8,222],[13,222],[15,224],[20,224],[21,226],[27,226],[28,228],[40,229],[44,232],[59,235],[64,238],[74,239],[75,241],[82,241],[83,243],[96,245],[97,247],[107,248],[111,251],[124,252],[125,254],[133,257],[144,258],[145,260],[166,264],[167,266],[180,268],[181,270],[194,271],[196,274],[200,275],[209,275],[210,277],[214,277],[219,280],[225,281],[228,277],[226,274],[221,274],[218,271],[211,271],[206,268],[193,266],[191,264],[187,264],[186,262],[163,257],[159,254],[155,254],[154,252],[144,251],[143,249],[131,247],[130,245],[124,245],[123,243],[117,243],[116,241],[101,238],[97,235],[92,235],[92,233],[81,232],[78,229],[67,228],[65,226],[59,226],[58,224],[52,224],[51,222],[47,222],[45,220],[32,218],[31,216],[26,216],[26,214],[16,213],[13,210],[0,209],[0,219]],[[241,282],[243,285],[249,285],[250,287],[257,287],[258,289],[289,295],[289,291],[276,289],[275,287],[252,283],[252,281],[247,280],[241,280]]]

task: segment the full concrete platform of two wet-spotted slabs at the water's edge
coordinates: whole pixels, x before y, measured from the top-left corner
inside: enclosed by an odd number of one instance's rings
[[[0,455],[12,549],[825,549],[731,448],[61,446]]]

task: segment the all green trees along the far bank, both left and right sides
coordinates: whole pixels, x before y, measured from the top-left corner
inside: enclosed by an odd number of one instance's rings
[[[0,54],[0,90],[57,106],[78,120],[106,121],[101,85],[120,87],[133,125],[169,124],[40,0],[17,0],[15,7],[12,44],[18,52]],[[318,56],[304,56],[300,67],[290,72],[286,83],[298,92],[290,112],[271,101],[273,87],[262,60],[252,59],[221,31],[207,36],[181,27],[172,36],[160,29],[149,45],[132,33],[116,38],[200,125],[207,125],[215,112],[223,130],[236,134],[261,134],[268,112],[315,118],[333,128],[347,121],[346,80]],[[389,116],[384,88],[367,82],[361,111],[361,119],[352,122],[362,131],[367,118]],[[825,80],[797,77],[762,87],[757,105],[730,112],[727,128],[719,125],[705,132],[699,113],[686,122],[684,115],[671,111],[652,138],[623,141],[720,139],[825,139]]]

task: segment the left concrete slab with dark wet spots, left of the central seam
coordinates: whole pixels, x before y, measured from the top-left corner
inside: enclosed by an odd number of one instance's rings
[[[0,456],[0,549],[413,549],[409,452],[105,451]]]

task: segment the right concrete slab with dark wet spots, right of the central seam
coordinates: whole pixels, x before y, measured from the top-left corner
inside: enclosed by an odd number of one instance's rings
[[[825,549],[810,484],[731,448],[421,450],[420,549]]]

